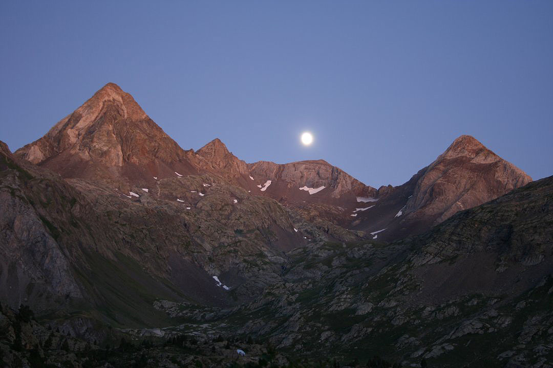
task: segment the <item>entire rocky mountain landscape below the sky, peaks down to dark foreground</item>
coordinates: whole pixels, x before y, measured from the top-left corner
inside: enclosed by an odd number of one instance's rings
[[[186,151],[109,83],[0,142],[0,357],[552,366],[552,195],[470,136],[378,190],[324,160]]]

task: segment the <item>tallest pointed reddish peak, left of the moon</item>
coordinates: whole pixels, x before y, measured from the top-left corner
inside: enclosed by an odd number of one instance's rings
[[[128,177],[139,166],[157,174],[160,165],[164,168],[161,172],[173,172],[165,166],[179,162],[185,162],[180,171],[194,171],[187,162],[190,154],[115,83],[103,86],[44,137],[16,151],[15,156],[64,177],[118,178],[123,172]]]

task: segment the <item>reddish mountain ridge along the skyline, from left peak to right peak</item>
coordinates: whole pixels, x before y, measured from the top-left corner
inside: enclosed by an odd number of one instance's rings
[[[380,234],[387,240],[424,231],[457,211],[531,181],[522,170],[468,135],[457,137],[405,184],[378,189],[324,159],[246,163],[219,138],[197,151],[185,151],[145,114],[131,94],[114,83],[106,84],[44,137],[15,151],[14,156],[62,177],[103,179],[128,189],[151,186],[158,179],[209,173],[288,206],[309,203],[310,216],[318,214],[335,225],[368,233],[387,228]],[[359,198],[378,200],[376,208],[355,212]],[[337,212],[332,206],[346,210]],[[354,212],[348,214],[349,209]]]

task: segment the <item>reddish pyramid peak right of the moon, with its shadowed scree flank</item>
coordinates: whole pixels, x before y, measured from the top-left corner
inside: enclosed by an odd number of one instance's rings
[[[356,216],[356,228],[369,233],[385,228],[378,234],[384,241],[403,238],[531,181],[523,170],[463,135],[407,183],[379,188],[377,205]]]

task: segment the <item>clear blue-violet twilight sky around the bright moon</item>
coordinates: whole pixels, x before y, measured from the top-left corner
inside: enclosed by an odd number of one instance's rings
[[[0,140],[107,82],[182,148],[399,185],[459,135],[553,174],[553,1],[0,3]],[[310,147],[300,134],[314,135]]]

